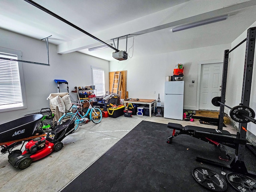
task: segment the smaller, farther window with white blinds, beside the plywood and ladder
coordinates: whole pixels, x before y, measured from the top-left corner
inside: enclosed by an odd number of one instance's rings
[[[104,96],[105,94],[105,77],[104,70],[92,68],[92,79],[96,89],[96,96]]]

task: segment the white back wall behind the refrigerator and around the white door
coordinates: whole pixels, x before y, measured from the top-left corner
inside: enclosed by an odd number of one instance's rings
[[[230,44],[182,50],[145,57],[128,58],[125,61],[110,62],[110,71],[127,70],[127,91],[129,98],[156,99],[160,94],[164,103],[164,82],[172,76],[178,63],[184,66],[184,109],[196,110],[198,86],[198,62],[224,59],[224,50]],[[136,54],[136,48],[134,55]],[[195,80],[194,87],[190,87]],[[154,94],[156,91],[156,94]]]

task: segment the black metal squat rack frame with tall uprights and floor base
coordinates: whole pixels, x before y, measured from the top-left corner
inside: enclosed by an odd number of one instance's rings
[[[254,62],[254,52],[255,52],[255,36],[256,36],[256,27],[249,28],[247,30],[246,37],[246,52],[245,52],[245,62],[244,62],[244,77],[243,77],[243,86],[242,86],[242,96],[240,105],[248,106],[250,105],[250,93],[252,87],[252,70],[253,70],[253,62]],[[243,42],[240,42],[237,46],[235,46],[232,50],[224,51],[224,65],[223,65],[223,74],[222,74],[222,87],[221,87],[221,99],[220,102],[223,103],[220,105],[220,113],[219,113],[219,125],[218,129],[222,130],[223,128],[223,120],[224,120],[224,103],[226,96],[226,80],[227,80],[227,72],[228,72],[228,57],[229,53],[233,51],[235,48],[240,46]],[[236,157],[230,164],[230,166],[225,166],[224,164],[220,164],[218,162],[212,162],[210,160],[203,160],[197,158],[199,161],[203,161],[208,164],[212,164],[214,166],[226,167],[231,169],[234,172],[238,172],[241,174],[249,174],[252,176],[256,176],[254,172],[248,172],[245,164],[244,164],[244,150],[246,146],[246,131],[247,123],[239,123],[238,132],[236,135],[237,142],[239,143],[236,147],[235,155]]]

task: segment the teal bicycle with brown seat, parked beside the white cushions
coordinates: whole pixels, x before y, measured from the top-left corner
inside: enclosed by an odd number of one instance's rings
[[[62,124],[62,122],[65,122],[66,120],[74,120],[75,126],[74,126],[73,132],[75,132],[79,125],[85,124],[86,122],[88,122],[89,120],[87,118],[88,114],[90,114],[89,115],[90,120],[95,124],[98,124],[102,120],[102,112],[99,108],[92,107],[92,105],[90,104],[91,101],[92,100],[89,100],[89,101],[81,100],[81,102],[89,102],[88,110],[83,116],[80,114],[80,111],[82,109],[81,104],[78,104],[78,106],[73,104],[71,108],[73,109],[74,113],[69,112],[69,113],[63,114],[58,120],[58,124]]]

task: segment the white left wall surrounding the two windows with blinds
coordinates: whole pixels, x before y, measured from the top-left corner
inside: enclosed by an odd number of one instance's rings
[[[0,29],[0,46],[22,51],[22,60],[46,64],[48,62],[44,41]],[[41,108],[48,108],[49,101],[46,98],[50,93],[57,92],[54,79],[68,81],[70,96],[76,100],[77,95],[71,91],[75,86],[92,84],[91,66],[98,66],[105,70],[106,90],[108,90],[108,61],[79,52],[60,55],[57,54],[57,48],[53,44],[49,44],[49,55],[50,66],[22,63],[27,109],[1,112],[0,124],[26,114],[40,112]],[[64,91],[61,90],[61,92]]]

